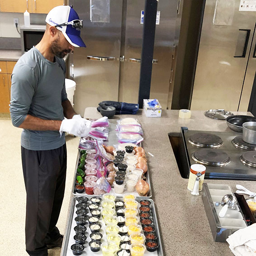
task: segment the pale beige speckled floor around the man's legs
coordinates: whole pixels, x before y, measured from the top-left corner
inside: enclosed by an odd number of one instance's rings
[[[0,119],[0,255],[26,256],[25,204],[26,192],[21,167],[20,134],[22,129],[12,126],[10,119]],[[66,136],[67,178],[62,211],[57,224],[64,233],[76,165],[78,137]],[[10,248],[10,249],[9,249]],[[48,250],[49,256],[59,256],[60,249]]]

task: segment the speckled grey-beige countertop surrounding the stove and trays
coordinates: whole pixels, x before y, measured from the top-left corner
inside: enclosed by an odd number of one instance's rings
[[[233,112],[233,114],[238,114]],[[251,115],[247,112],[239,114]],[[96,108],[85,109],[85,118],[99,118]],[[124,118],[127,115],[115,116]],[[201,131],[231,130],[223,120],[204,116],[204,111],[192,111],[190,119],[180,119],[178,110],[162,110],[161,118],[147,118],[142,110],[130,115],[141,124],[144,132],[143,147],[148,155],[149,175],[152,182],[152,199],[161,230],[166,256],[232,256],[228,243],[213,241],[208,218],[200,196],[192,196],[187,190],[188,179],[180,176],[168,133],[179,133],[180,127]],[[204,180],[207,183],[228,184],[236,190],[241,184],[255,191],[255,181]],[[247,198],[247,196],[245,195]]]

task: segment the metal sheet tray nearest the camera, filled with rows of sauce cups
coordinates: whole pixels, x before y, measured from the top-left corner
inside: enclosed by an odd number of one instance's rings
[[[86,196],[89,200],[87,202],[90,203],[90,196]],[[74,236],[76,235],[75,231],[74,231],[74,227],[76,226],[76,222],[75,222],[75,218],[76,218],[76,204],[77,204],[77,199],[78,197],[73,197],[71,198],[72,202],[71,202],[71,208],[70,208],[70,213],[67,219],[67,225],[66,225],[66,230],[65,230],[65,236],[64,236],[64,240],[63,240],[63,244],[62,244],[62,251],[61,251],[61,256],[73,256],[73,253],[71,251],[71,245],[75,243],[74,241]],[[137,198],[136,199],[138,202],[140,202],[141,200],[143,200],[142,198]],[[145,251],[144,256],[163,256],[163,248],[162,248],[162,243],[161,243],[161,235],[160,235],[160,231],[159,231],[159,226],[158,226],[158,221],[157,221],[157,217],[156,217],[156,208],[155,208],[155,204],[154,201],[152,199],[148,199],[151,202],[151,212],[152,212],[152,220],[153,220],[153,224],[155,227],[155,232],[156,232],[156,236],[158,237],[158,244],[159,247],[157,249],[157,251],[154,252],[150,252],[150,251]],[[90,215],[90,213],[88,213],[88,215]],[[103,234],[103,238],[101,239],[101,242],[105,241],[106,235],[105,235],[105,231],[104,231],[104,227],[105,224],[102,221],[102,217],[100,218],[100,224],[102,225],[102,228],[100,230],[100,232]],[[87,222],[85,224],[85,227],[87,228],[86,230],[86,241],[84,244],[84,251],[82,252],[82,256],[85,255],[90,255],[90,256],[100,256],[102,255],[102,252],[92,252],[90,250],[89,247],[89,242],[90,242],[90,228],[89,228],[89,223]]]

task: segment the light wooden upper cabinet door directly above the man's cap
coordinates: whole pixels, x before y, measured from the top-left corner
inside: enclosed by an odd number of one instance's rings
[[[63,5],[64,0],[30,0],[33,13],[47,14],[53,7]]]

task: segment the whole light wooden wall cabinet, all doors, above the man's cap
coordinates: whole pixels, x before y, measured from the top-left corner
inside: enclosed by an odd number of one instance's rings
[[[47,14],[53,7],[66,4],[66,0],[0,0],[1,12]]]

